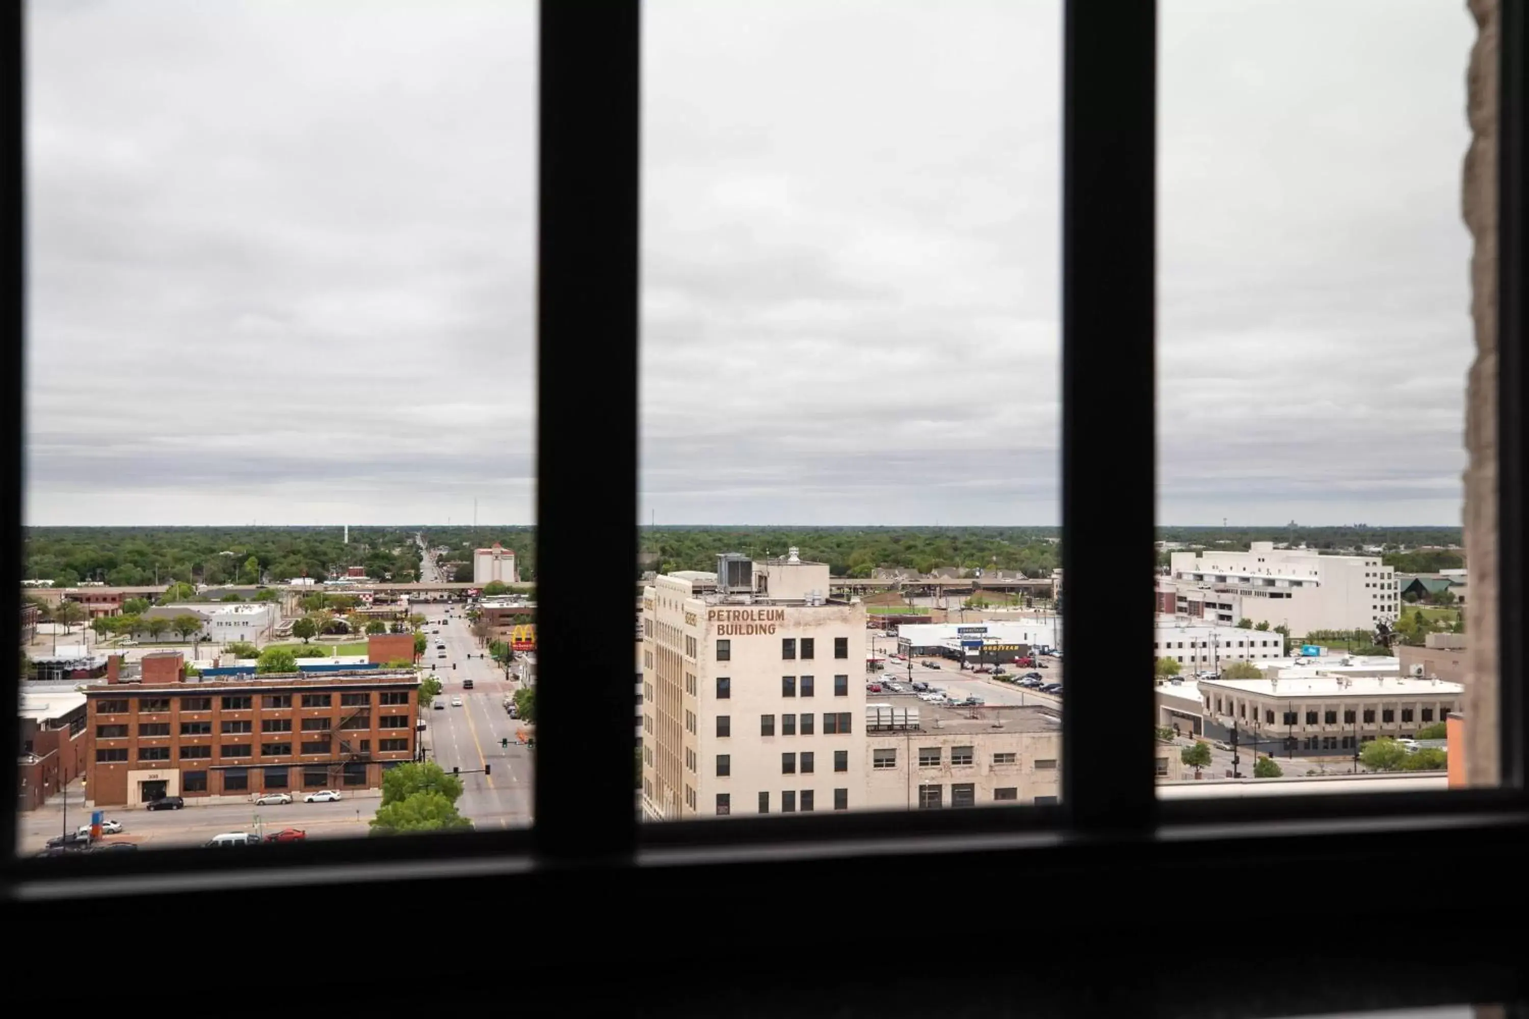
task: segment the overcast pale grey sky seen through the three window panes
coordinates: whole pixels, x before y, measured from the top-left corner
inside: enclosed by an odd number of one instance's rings
[[[644,9],[641,521],[1055,524],[1060,2]],[[1463,0],[1159,9],[1159,521],[1459,524]],[[28,522],[534,522],[534,5],[29,18]]]

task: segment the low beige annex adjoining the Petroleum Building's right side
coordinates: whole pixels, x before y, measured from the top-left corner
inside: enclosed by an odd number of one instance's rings
[[[933,707],[911,697],[865,706],[868,810],[1055,804],[1061,718],[1046,707]]]

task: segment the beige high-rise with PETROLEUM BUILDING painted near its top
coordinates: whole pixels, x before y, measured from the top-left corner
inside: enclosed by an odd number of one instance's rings
[[[645,819],[865,807],[865,608],[827,593],[795,548],[644,588]]]

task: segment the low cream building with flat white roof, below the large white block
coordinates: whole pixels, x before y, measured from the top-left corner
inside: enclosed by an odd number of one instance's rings
[[[1161,687],[1159,687],[1161,689]],[[1411,739],[1463,703],[1465,687],[1398,675],[1310,675],[1263,680],[1200,680],[1203,735],[1280,756],[1353,753],[1379,738]]]

